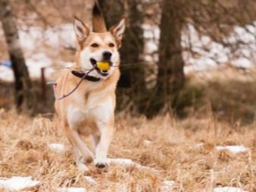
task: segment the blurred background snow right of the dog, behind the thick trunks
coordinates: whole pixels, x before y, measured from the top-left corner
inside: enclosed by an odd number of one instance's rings
[[[204,71],[209,68],[216,68],[218,65],[230,63],[239,68],[251,68],[256,63],[256,39],[252,33],[256,31],[256,23],[247,25],[246,30],[243,27],[233,27],[233,33],[223,39],[223,42],[229,43],[232,49],[237,42],[243,42],[235,54],[232,54],[231,48],[224,47],[218,42],[214,42],[209,36],[200,36],[191,24],[186,25],[186,30],[182,33],[182,47],[185,50],[191,49],[191,52],[183,51],[185,60],[185,74],[191,71]],[[148,62],[156,62],[157,48],[160,38],[160,29],[157,25],[144,24],[145,40],[145,58]]]

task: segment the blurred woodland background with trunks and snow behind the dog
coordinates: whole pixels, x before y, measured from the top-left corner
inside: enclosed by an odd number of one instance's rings
[[[52,113],[46,82],[71,66],[74,15],[91,25],[93,0],[0,0],[0,108]],[[211,113],[248,124],[256,109],[254,0],[99,0],[106,24],[127,17],[117,111]]]

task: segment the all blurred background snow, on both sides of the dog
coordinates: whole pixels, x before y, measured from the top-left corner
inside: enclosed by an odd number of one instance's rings
[[[160,29],[157,25],[143,24],[144,29],[144,58],[148,63],[155,64],[158,61],[158,45]],[[235,26],[230,36],[223,39],[223,42],[235,47],[236,42],[242,41],[235,55],[231,49],[224,47],[218,42],[213,42],[209,36],[199,36],[197,30],[191,24],[187,24],[186,30],[182,33],[182,47],[185,60],[185,74],[191,71],[205,71],[209,68],[216,68],[219,64],[230,63],[239,68],[251,68],[256,63],[256,39],[253,33],[256,31],[256,22],[247,25],[245,28]],[[59,47],[75,47],[76,40],[72,24],[62,24],[56,27],[30,27],[27,30],[19,31],[21,46],[26,55],[26,62],[32,78],[40,77],[41,68],[47,68],[46,78],[51,77],[52,58],[43,52],[42,47],[46,46],[51,55],[59,57]],[[1,60],[1,58],[0,58]],[[0,66],[0,80],[13,81],[14,77],[10,68]]]

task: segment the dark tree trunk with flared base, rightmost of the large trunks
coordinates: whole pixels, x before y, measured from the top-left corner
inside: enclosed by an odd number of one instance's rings
[[[163,0],[160,23],[159,65],[155,93],[147,108],[148,116],[175,109],[185,77],[182,58],[182,1]]]

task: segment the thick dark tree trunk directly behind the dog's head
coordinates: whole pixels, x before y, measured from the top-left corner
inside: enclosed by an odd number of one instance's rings
[[[141,111],[140,103],[145,93],[145,76],[144,66],[141,64],[141,55],[144,49],[143,16],[138,10],[139,0],[102,0],[99,1],[100,7],[103,10],[103,15],[106,18],[106,24],[111,27],[117,24],[125,14],[126,29],[122,40],[121,54],[121,77],[118,84],[118,109],[123,109],[124,106],[131,104],[131,108],[135,111]],[[131,66],[125,66],[131,64]],[[130,102],[130,103],[129,103]],[[131,110],[131,109],[129,109]]]

